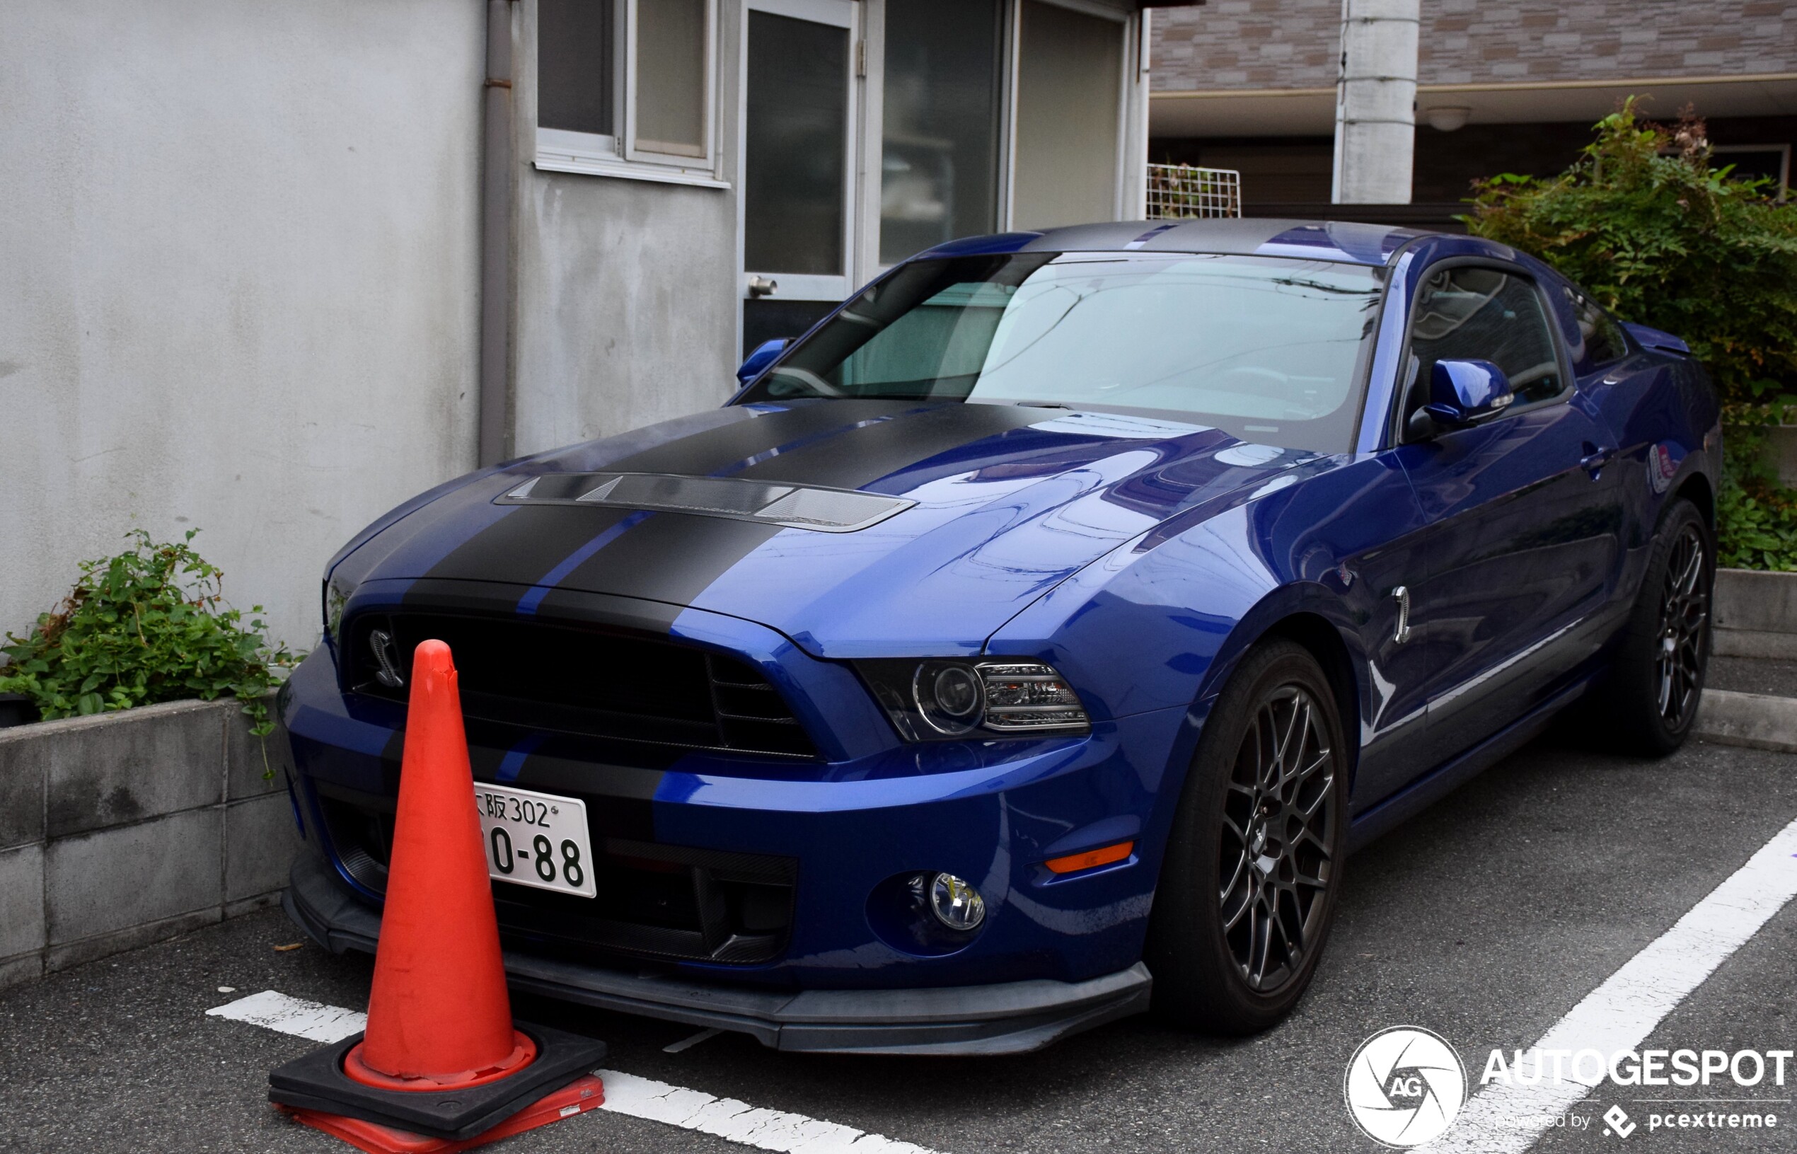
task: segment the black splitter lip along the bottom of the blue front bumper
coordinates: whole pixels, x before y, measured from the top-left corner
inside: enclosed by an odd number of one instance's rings
[[[314,854],[293,866],[282,906],[331,953],[374,953],[381,915]],[[1136,965],[1085,981],[1001,981],[891,990],[766,990],[507,951],[512,989],[606,1010],[749,1034],[764,1046],[830,1053],[1026,1053],[1148,1008]]]

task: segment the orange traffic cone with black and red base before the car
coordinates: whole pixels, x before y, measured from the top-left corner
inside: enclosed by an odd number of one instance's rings
[[[270,1073],[298,1122],[372,1154],[465,1150],[606,1100],[606,1044],[512,1021],[455,663],[412,661],[368,1028]]]

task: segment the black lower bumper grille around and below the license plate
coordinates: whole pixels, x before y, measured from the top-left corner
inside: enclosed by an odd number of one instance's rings
[[[331,845],[350,877],[386,893],[392,802],[320,784]],[[606,954],[755,965],[782,954],[792,924],[791,857],[593,836],[597,897],[492,883],[500,933],[575,958]]]

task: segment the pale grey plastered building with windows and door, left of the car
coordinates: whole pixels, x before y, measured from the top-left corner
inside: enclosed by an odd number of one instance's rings
[[[1138,0],[0,5],[0,631],[128,528],[277,638],[363,523],[722,403],[952,235],[1141,216]]]

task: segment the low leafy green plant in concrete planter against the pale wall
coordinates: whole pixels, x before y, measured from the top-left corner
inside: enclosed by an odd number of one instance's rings
[[[243,613],[225,604],[223,573],[190,546],[196,532],[158,545],[137,528],[126,534],[133,548],[83,561],[81,579],[54,613],[40,615],[25,636],[7,633],[0,692],[27,696],[45,721],[232,694],[253,723],[250,732],[271,733],[273,670],[295,654],[270,647],[261,618],[244,627]]]

